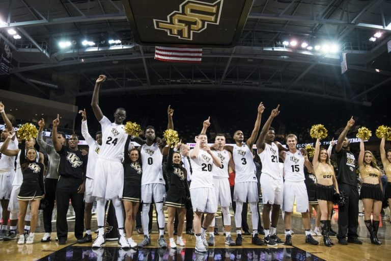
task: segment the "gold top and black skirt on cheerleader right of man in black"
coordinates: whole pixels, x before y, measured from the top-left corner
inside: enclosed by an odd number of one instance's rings
[[[371,198],[375,200],[383,200],[383,193],[380,189],[379,176],[380,170],[370,165],[359,167],[361,178],[364,180],[366,177],[370,177],[370,180],[377,181],[377,184],[362,183],[360,199]]]

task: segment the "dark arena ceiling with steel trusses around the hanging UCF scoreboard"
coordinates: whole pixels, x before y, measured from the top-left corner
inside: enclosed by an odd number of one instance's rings
[[[199,64],[155,60],[154,46],[134,41],[122,1],[6,0],[0,19],[0,37],[13,49],[10,75],[44,98],[64,88],[58,77],[77,80],[74,96],[91,96],[97,75],[106,74],[102,95],[241,89],[371,106],[389,94],[391,83],[391,1],[255,0],[237,45],[204,47]],[[60,48],[66,40],[71,46]],[[83,46],[83,40],[95,45]],[[295,47],[283,44],[293,40]],[[335,43],[339,51],[309,50],[303,42]],[[347,57],[343,74],[341,52]]]

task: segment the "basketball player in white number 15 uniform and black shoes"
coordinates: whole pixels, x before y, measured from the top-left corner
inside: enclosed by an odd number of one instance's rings
[[[284,160],[284,203],[283,210],[285,224],[285,245],[292,245],[292,212],[293,204],[296,200],[296,211],[301,213],[301,221],[305,229],[305,243],[318,245],[311,236],[311,221],[308,213],[308,195],[305,187],[304,165],[309,171],[313,171],[311,162],[305,149],[298,150],[297,137],[294,134],[287,136],[289,151],[282,155]]]

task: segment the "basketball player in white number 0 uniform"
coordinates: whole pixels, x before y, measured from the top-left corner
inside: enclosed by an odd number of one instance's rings
[[[174,110],[167,109],[167,117],[169,123],[167,129],[174,129],[173,124]],[[142,213],[142,225],[144,230],[144,240],[138,244],[139,247],[145,247],[151,244],[151,238],[149,236],[148,224],[149,224],[149,209],[153,201],[155,202],[155,210],[157,213],[157,222],[159,224],[159,239],[157,241],[159,247],[166,248],[167,243],[164,239],[164,224],[165,218],[163,214],[163,202],[165,197],[165,184],[162,161],[163,155],[161,150],[164,144],[158,144],[156,142],[155,128],[153,126],[147,126],[145,132],[147,142],[137,139],[139,144],[142,144],[140,149],[141,161],[143,162],[143,175],[141,177],[141,200],[143,203]],[[168,184],[167,184],[168,185]]]

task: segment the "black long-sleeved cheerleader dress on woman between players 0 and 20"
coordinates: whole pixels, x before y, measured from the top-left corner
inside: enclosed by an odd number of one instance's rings
[[[187,183],[187,172],[181,164],[173,164],[174,149],[170,148],[166,172],[169,177],[169,191],[165,200],[166,206],[185,207],[186,197],[190,196]]]

